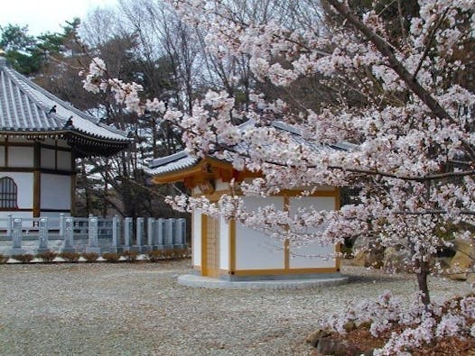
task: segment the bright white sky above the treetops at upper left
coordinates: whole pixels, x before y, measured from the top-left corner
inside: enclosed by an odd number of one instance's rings
[[[84,18],[95,7],[115,4],[116,0],[3,0],[0,2],[0,26],[27,24],[32,35],[61,32],[65,21]]]

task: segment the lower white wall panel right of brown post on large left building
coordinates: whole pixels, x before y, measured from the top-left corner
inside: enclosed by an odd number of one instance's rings
[[[54,174],[42,174],[42,209],[71,208],[71,178]]]

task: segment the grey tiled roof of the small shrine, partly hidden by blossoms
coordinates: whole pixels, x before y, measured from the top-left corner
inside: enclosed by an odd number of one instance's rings
[[[250,124],[254,124],[252,121],[247,121],[246,123],[242,123],[239,125],[240,130],[245,130],[246,127]],[[293,142],[298,144],[303,144],[308,147],[311,147],[313,151],[322,151],[322,150],[338,150],[338,151],[349,151],[354,149],[356,146],[349,143],[349,142],[342,142],[337,143],[334,145],[325,145],[319,144],[311,141],[307,141],[303,139],[302,132],[300,132],[297,128],[287,123],[282,123],[279,121],[275,121],[272,123],[272,126],[275,127],[277,130],[282,130],[284,132],[290,133],[290,137],[292,138]],[[246,152],[246,147],[241,147],[242,144],[238,144],[235,146],[236,151],[243,151]],[[208,158],[209,160],[210,158]],[[200,164],[203,159],[198,157],[193,157],[186,151],[179,151],[174,153],[170,156],[166,156],[160,159],[151,160],[149,162],[148,168],[145,169],[145,172],[154,176],[154,180],[156,182],[160,181],[169,181],[174,179],[178,176],[179,172],[194,172],[192,170],[193,167],[196,167]],[[214,159],[216,160],[216,159]],[[167,177],[171,179],[161,179],[162,177]],[[183,175],[184,176],[184,175]]]

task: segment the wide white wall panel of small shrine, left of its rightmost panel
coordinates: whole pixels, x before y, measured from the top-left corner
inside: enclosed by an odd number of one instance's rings
[[[276,209],[284,208],[283,196],[244,196],[243,200],[250,211],[271,204]],[[281,240],[236,224],[236,269],[284,269],[283,247]]]

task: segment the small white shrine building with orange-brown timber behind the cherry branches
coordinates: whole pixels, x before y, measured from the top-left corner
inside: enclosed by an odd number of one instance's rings
[[[278,126],[292,132],[290,126],[283,123]],[[195,158],[185,151],[151,161],[148,173],[155,184],[182,181],[193,196],[207,196],[210,201],[218,201],[220,196],[231,192],[231,179],[234,178],[236,184],[256,177],[250,172],[233,169],[227,161]],[[340,208],[338,187],[320,187],[311,196],[299,196],[301,192],[286,190],[275,196],[243,196],[243,199],[250,211],[271,204],[277,209],[288,209],[290,214],[299,207]],[[201,276],[229,281],[340,276],[340,259],[333,253],[338,246],[312,242],[293,248],[288,241],[274,239],[235,221],[226,222],[223,218],[200,214],[200,211],[192,213],[191,247],[193,268]]]

